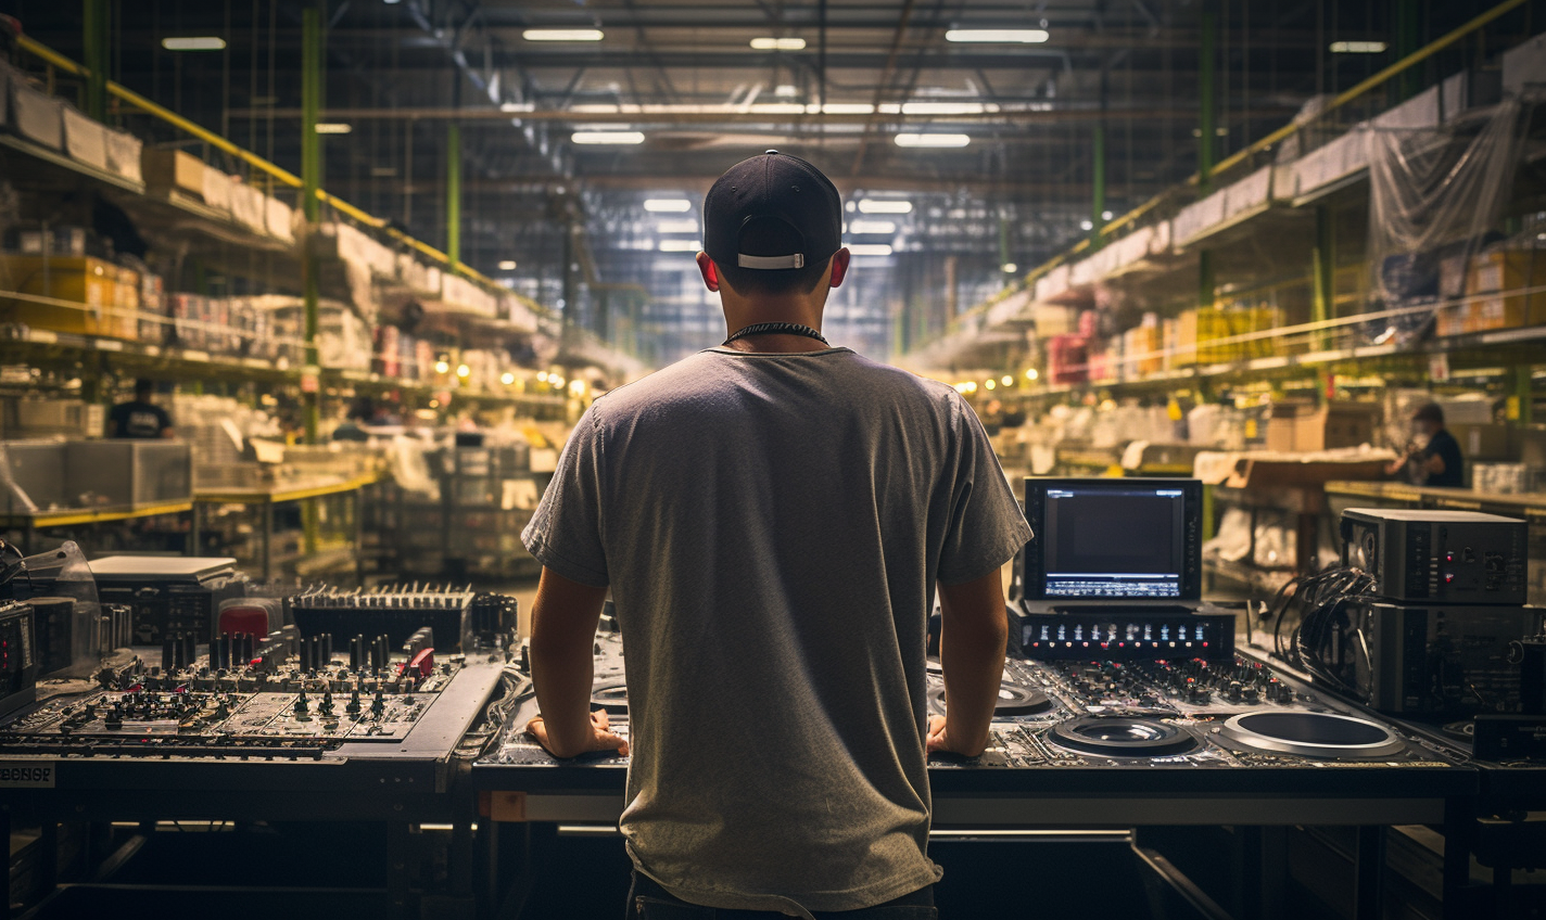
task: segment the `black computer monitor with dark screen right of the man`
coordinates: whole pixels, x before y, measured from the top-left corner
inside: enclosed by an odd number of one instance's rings
[[[1020,596],[1031,602],[1201,599],[1203,483],[1025,480]]]

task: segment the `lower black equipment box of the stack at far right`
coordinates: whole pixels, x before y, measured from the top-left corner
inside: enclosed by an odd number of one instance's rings
[[[1373,602],[1356,611],[1354,662],[1370,707],[1387,713],[1518,713],[1520,639],[1535,634],[1540,610]],[[1514,661],[1510,661],[1510,658]]]

